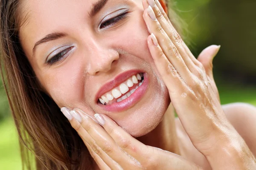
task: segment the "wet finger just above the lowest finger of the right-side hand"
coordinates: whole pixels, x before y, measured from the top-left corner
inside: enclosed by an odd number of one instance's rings
[[[158,43],[169,62],[172,63],[173,67],[180,73],[181,77],[185,80],[190,79],[191,72],[175,45],[157,21],[151,6],[148,6],[148,9],[144,11],[143,18],[148,26],[148,31],[154,33],[155,37],[157,37]]]

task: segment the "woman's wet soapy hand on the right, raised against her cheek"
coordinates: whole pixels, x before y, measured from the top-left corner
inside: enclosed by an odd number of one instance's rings
[[[151,33],[148,48],[193,145],[212,169],[255,169],[253,154],[221,108],[212,68],[205,69],[192,55],[158,0],[143,0],[143,6]]]

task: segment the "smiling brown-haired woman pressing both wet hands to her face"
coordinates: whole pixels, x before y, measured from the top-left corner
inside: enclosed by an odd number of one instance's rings
[[[37,169],[256,168],[256,108],[221,107],[219,46],[195,59],[166,9],[1,0],[3,80],[29,168],[25,147]]]

